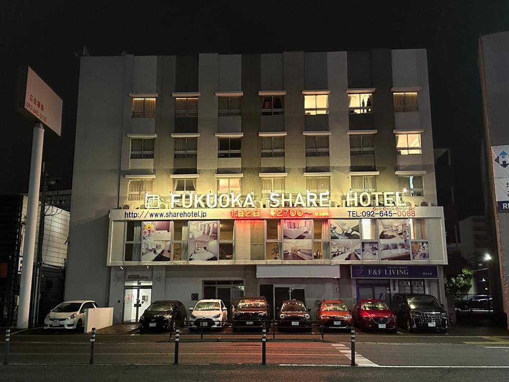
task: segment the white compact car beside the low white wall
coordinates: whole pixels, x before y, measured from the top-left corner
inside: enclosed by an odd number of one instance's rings
[[[44,319],[44,329],[76,329],[83,330],[85,311],[98,308],[95,301],[65,301],[51,309]]]

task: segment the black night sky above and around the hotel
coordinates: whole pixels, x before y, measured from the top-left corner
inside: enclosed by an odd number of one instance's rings
[[[10,1],[0,12],[0,193],[26,192],[33,123],[13,107],[16,70],[31,65],[64,99],[62,137],[47,132],[46,170],[70,188],[79,59],[93,56],[428,49],[433,140],[453,150],[460,219],[483,214],[480,35],[509,30],[509,1]],[[84,3],[84,4],[82,4]],[[106,4],[107,3],[107,4]],[[94,155],[91,153],[91,155]]]

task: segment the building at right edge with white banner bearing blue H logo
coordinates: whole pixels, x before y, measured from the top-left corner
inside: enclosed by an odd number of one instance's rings
[[[509,32],[479,39],[479,72],[485,125],[485,206],[492,260],[495,312],[509,312]],[[501,291],[501,293],[498,293]]]

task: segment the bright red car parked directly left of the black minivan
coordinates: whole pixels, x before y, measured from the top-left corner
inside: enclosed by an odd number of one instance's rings
[[[398,331],[396,316],[392,314],[385,301],[375,299],[360,299],[352,311],[355,326],[362,330],[387,330],[390,333]]]

